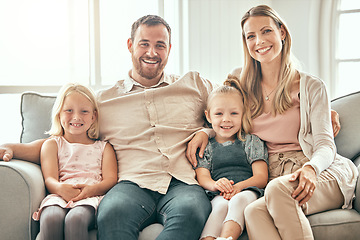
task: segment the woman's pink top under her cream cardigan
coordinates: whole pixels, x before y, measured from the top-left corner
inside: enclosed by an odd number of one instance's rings
[[[263,113],[253,119],[252,134],[266,142],[269,155],[279,152],[301,150],[299,90],[291,93],[293,106],[283,114]]]

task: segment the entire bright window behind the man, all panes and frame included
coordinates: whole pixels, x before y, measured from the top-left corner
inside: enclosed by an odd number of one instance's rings
[[[55,93],[66,82],[94,89],[113,85],[131,68],[126,47],[131,24],[143,15],[158,14],[177,29],[179,4],[177,0],[0,1],[0,143],[19,141],[22,92]],[[167,69],[180,74],[174,55]]]

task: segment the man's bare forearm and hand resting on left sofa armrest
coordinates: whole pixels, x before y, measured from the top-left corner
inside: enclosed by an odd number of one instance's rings
[[[0,145],[0,159],[10,161],[13,158],[40,164],[40,150],[46,139],[31,143],[5,143]]]

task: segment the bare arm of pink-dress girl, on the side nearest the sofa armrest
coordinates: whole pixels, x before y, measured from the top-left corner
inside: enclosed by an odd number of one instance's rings
[[[61,196],[65,201],[79,195],[80,190],[73,188],[70,184],[59,182],[59,161],[57,156],[58,148],[54,139],[44,142],[41,148],[41,170],[44,176],[45,185],[50,193]]]

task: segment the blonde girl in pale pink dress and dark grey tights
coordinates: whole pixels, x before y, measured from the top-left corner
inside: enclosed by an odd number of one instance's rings
[[[95,212],[117,182],[115,152],[99,137],[99,109],[93,92],[67,84],[59,92],[52,126],[41,148],[41,169],[49,195],[35,220],[40,239],[89,239]]]

